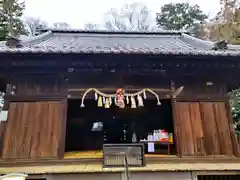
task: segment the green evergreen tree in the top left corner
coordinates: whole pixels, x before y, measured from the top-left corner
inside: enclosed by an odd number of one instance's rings
[[[0,40],[5,40],[8,34],[18,36],[25,33],[21,16],[25,8],[19,0],[0,1]]]

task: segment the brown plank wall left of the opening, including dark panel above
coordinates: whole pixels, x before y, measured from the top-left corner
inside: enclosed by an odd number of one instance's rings
[[[9,114],[2,139],[2,158],[63,157],[67,113],[65,79],[21,75],[10,78],[7,90]]]

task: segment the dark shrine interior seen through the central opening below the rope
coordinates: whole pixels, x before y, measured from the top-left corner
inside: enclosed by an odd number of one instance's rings
[[[80,99],[69,99],[65,151],[102,150],[103,144],[132,143],[135,132],[137,140],[147,139],[153,130],[164,129],[173,132],[171,100],[161,100],[157,106],[156,99],[144,101],[144,107],[111,108],[97,107],[97,101],[87,99],[85,108],[81,108]],[[92,131],[94,122],[102,122],[102,131]],[[124,133],[125,132],[125,133]],[[156,144],[155,153],[165,154],[166,147]],[[171,154],[175,154],[174,143]],[[162,149],[162,150],[161,150]],[[161,152],[163,151],[163,152]],[[145,153],[147,148],[145,148]]]

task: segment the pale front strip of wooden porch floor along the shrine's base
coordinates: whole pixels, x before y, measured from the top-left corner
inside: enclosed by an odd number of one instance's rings
[[[239,170],[240,163],[155,163],[145,167],[130,168],[132,172],[156,172],[156,171],[225,171]],[[16,166],[0,167],[2,174],[26,173],[26,174],[53,174],[53,173],[96,173],[96,172],[123,172],[124,168],[102,168],[99,164],[58,164],[42,166]]]

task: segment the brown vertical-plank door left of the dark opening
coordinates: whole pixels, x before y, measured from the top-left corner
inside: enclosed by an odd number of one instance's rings
[[[65,129],[65,101],[10,103],[2,157],[58,158],[64,152]]]

